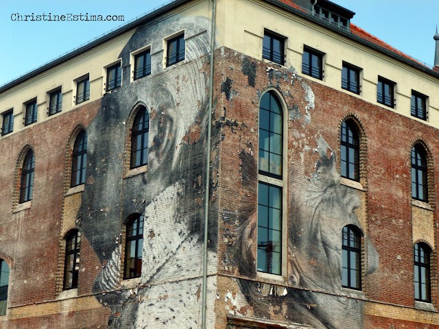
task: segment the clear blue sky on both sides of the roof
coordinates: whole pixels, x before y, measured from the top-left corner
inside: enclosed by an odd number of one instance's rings
[[[169,0],[0,0],[0,85]],[[233,1],[233,0],[227,0]],[[332,0],[353,12],[352,23],[427,64],[434,64],[437,0]],[[12,21],[11,14],[123,15],[125,22]]]

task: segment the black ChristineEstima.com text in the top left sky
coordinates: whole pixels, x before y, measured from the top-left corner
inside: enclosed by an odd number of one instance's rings
[[[49,22],[59,22],[59,21],[81,21],[81,22],[105,22],[105,21],[125,21],[123,15],[92,15],[86,12],[85,14],[20,14],[19,12],[14,12],[11,14],[11,21],[17,22],[34,22],[34,21],[49,21]]]

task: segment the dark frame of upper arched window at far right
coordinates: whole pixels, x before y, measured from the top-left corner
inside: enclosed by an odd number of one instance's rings
[[[415,152],[415,156],[414,156]],[[419,155],[419,158],[418,156]],[[410,152],[411,158],[411,175],[412,175],[412,199],[419,200],[420,202],[428,202],[428,156],[427,150],[420,143],[416,143],[413,145],[412,150]],[[414,163],[415,159],[415,163]],[[416,163],[420,160],[420,164]],[[423,162],[425,165],[423,165]],[[419,182],[419,173],[422,173],[422,184]],[[415,180],[414,180],[415,178]],[[423,197],[419,197],[420,195],[420,186],[422,186],[422,194]],[[414,193],[415,191],[415,193]]]

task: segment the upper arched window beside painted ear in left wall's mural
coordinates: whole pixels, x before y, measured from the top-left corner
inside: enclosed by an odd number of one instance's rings
[[[131,132],[130,169],[141,167],[148,162],[148,133],[150,131],[150,114],[141,106],[134,118]]]

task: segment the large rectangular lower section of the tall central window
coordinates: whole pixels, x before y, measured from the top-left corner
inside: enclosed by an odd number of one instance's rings
[[[257,269],[281,275],[282,270],[282,188],[258,184]]]

